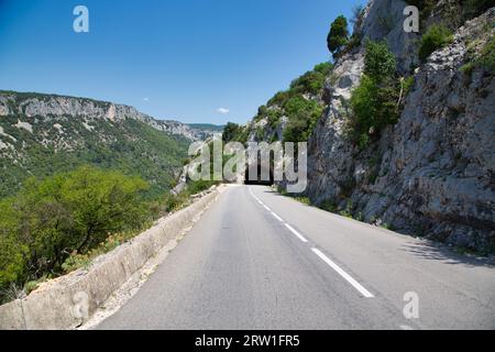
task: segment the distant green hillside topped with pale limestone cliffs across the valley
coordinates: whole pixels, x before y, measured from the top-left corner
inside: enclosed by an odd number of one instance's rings
[[[29,176],[82,164],[140,175],[150,197],[173,186],[191,141],[210,132],[87,98],[0,91],[0,197]]]

